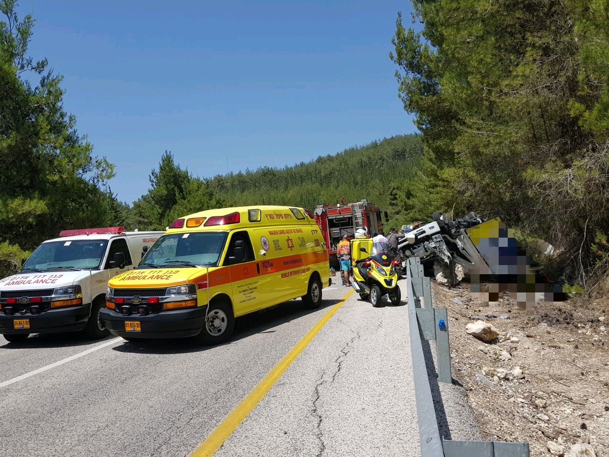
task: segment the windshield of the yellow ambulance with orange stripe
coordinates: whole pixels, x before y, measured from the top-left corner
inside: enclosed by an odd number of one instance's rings
[[[150,248],[138,268],[217,265],[227,239],[226,232],[171,233]]]

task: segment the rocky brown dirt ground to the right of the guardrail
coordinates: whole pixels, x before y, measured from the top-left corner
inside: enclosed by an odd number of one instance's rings
[[[484,305],[467,283],[432,289],[448,308],[452,375],[486,438],[528,441],[532,456],[609,457],[609,294],[524,311],[508,296]],[[468,335],[477,321],[498,338]]]

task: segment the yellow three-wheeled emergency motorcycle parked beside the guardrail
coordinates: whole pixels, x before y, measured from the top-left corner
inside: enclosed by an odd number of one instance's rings
[[[392,305],[402,300],[398,274],[395,267],[400,263],[389,253],[387,243],[373,243],[371,239],[351,241],[353,258],[353,282],[351,286],[362,300],[370,300],[372,306],[381,306],[382,296],[387,295]]]

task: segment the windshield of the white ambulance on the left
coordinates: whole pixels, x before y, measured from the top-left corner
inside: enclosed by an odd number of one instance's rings
[[[54,271],[58,269],[99,269],[106,252],[107,239],[52,241],[36,248],[21,271]]]

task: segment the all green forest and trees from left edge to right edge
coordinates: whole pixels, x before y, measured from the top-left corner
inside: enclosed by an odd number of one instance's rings
[[[387,58],[420,134],[214,177],[160,145],[149,189],[128,205],[108,185],[114,165],[63,107],[62,76],[29,56],[34,18],[0,0],[0,274],[60,228],[164,228],[208,208],[344,196],[380,205],[395,226],[435,210],[497,214],[522,241],[555,246],[557,277],[593,288],[609,266],[607,0],[412,4],[387,30]]]

